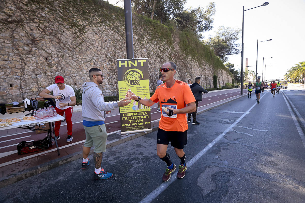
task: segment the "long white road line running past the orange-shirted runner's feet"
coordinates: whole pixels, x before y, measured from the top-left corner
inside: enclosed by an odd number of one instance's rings
[[[264,96],[264,95],[263,95]],[[261,96],[260,98],[262,98]],[[249,112],[253,107],[255,107],[257,103],[255,102],[252,107],[250,107],[246,112]],[[224,135],[228,133],[240,120],[242,120],[243,117],[245,117],[247,114],[242,114],[239,119],[237,119],[233,124],[231,124],[225,131],[223,131],[220,135],[217,136],[210,144],[208,144],[203,150],[201,150],[198,154],[196,154],[191,160],[188,161],[187,165],[188,168],[190,168],[198,159],[200,159],[211,147],[213,147]],[[163,182],[160,184],[154,191],[149,193],[145,198],[143,198],[140,203],[147,203],[153,201],[159,194],[161,194],[170,184],[172,184],[176,179],[178,171],[174,174],[172,174],[172,177],[167,182]]]

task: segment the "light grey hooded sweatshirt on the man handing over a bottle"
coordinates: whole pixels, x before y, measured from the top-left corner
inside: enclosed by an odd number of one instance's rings
[[[102,90],[94,82],[83,84],[82,117],[85,121],[105,121],[105,111],[119,107],[117,102],[105,102]]]

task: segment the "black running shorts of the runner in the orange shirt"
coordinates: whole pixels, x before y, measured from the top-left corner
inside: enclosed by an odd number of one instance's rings
[[[168,145],[169,143],[177,148],[183,149],[184,145],[187,144],[188,141],[188,130],[181,131],[165,131],[162,129],[158,129],[157,133],[157,144]]]

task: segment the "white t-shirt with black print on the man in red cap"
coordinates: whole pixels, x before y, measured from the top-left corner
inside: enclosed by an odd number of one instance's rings
[[[75,93],[74,93],[74,89],[71,86],[65,84],[65,89],[60,90],[56,84],[52,84],[52,85],[48,86],[47,89],[49,91],[53,92],[54,96],[57,96],[57,95],[61,96],[61,98],[59,100],[55,99],[57,108],[67,109],[70,107],[70,106],[66,106],[66,107],[60,108],[59,103],[61,103],[61,102],[71,103],[72,102],[70,99],[70,96],[75,96]]]

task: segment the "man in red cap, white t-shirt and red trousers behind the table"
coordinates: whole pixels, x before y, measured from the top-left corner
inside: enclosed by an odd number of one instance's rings
[[[62,76],[58,75],[55,77],[55,84],[48,86],[46,89],[42,90],[39,93],[39,96],[44,98],[53,98],[56,101],[56,112],[57,114],[63,116],[66,114],[66,122],[67,122],[67,129],[68,129],[68,137],[67,142],[71,142],[72,137],[72,112],[73,112],[73,105],[76,104],[76,98],[74,89],[64,84],[65,81]],[[50,92],[53,92],[53,95],[49,95]],[[60,128],[61,121],[55,122],[55,137],[56,140],[59,140],[59,128]]]

